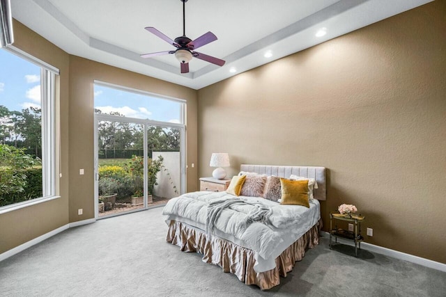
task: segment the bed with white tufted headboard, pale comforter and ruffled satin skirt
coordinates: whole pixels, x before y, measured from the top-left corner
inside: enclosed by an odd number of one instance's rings
[[[163,209],[169,225],[167,242],[185,252],[199,252],[203,262],[221,266],[245,284],[270,289],[304,257],[305,250],[318,244],[322,227],[318,200],[326,199],[325,168],[243,164],[239,175],[251,181],[266,177],[265,188],[278,177],[309,179],[316,186],[312,191],[309,187],[309,207],[282,205],[266,192],[261,197],[235,197],[199,191],[172,198]]]

